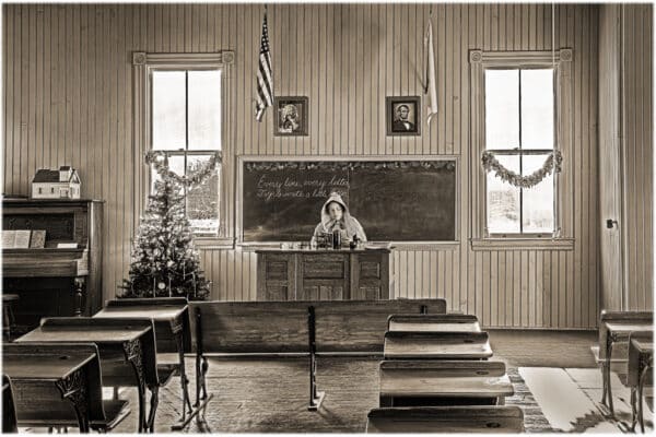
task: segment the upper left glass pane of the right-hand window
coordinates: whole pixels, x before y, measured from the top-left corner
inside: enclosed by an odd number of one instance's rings
[[[519,70],[485,70],[485,149],[519,146]]]

